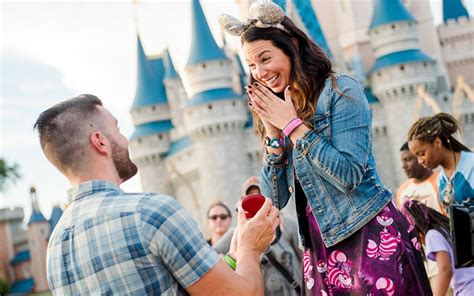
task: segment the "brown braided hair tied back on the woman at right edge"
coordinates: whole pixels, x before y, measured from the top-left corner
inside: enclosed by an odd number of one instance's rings
[[[460,129],[459,123],[453,116],[447,113],[438,113],[418,119],[408,131],[408,141],[419,140],[433,143],[436,138],[439,138],[443,146],[451,151],[470,151],[453,137],[453,134]]]

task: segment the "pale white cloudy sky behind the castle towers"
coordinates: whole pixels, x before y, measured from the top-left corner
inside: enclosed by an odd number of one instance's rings
[[[0,208],[22,206],[28,217],[29,188],[35,186],[48,218],[53,205],[66,202],[70,185],[44,157],[34,121],[57,102],[91,93],[102,99],[122,133],[130,136],[137,30],[148,55],[169,47],[177,69],[182,69],[190,47],[190,0],[136,5],[131,0],[0,1],[0,157],[18,163],[22,174],[0,197]],[[430,1],[439,23],[441,0]],[[220,36],[219,13],[239,16],[235,0],[201,3],[215,37]],[[474,0],[466,6],[472,15]],[[140,191],[138,176],[122,188]]]

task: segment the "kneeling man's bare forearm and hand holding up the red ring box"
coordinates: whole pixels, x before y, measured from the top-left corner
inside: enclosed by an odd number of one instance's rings
[[[279,224],[278,210],[266,198],[254,218],[238,213],[237,268],[233,271],[220,260],[209,272],[186,290],[191,295],[263,295],[260,255],[273,240]]]

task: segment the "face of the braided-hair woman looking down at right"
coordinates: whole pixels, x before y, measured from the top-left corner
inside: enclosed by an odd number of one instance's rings
[[[408,142],[410,152],[413,153],[425,168],[435,169],[441,163],[442,143],[437,138],[433,143],[427,143],[420,140]]]

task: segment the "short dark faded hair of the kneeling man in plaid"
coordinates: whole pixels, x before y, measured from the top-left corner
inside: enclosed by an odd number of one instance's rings
[[[34,124],[41,148],[60,171],[78,167],[87,157],[89,132],[100,124],[102,102],[94,95],[82,94],[43,111]]]

